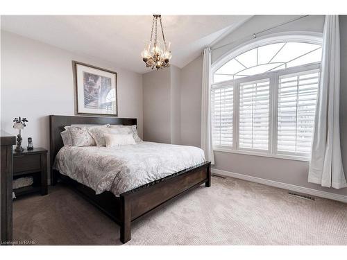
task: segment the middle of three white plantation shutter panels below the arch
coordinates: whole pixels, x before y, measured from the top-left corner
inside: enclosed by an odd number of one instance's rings
[[[239,148],[269,150],[269,79],[239,86]]]

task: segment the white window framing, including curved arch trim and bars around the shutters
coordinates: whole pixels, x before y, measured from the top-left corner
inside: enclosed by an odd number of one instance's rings
[[[279,42],[304,42],[310,44],[323,44],[323,33],[316,33],[310,31],[285,31],[280,33],[271,33],[269,35],[264,35],[256,37],[252,40],[246,42],[235,42],[235,47],[226,51],[221,55],[217,60],[212,62],[210,77],[213,79],[214,73],[220,69],[226,62],[232,60],[246,51],[255,49],[260,46],[274,44]],[[278,127],[278,79],[280,75],[286,75],[290,73],[296,73],[300,71],[309,71],[319,69],[321,70],[321,62],[314,62],[311,64],[304,64],[296,67],[289,67],[286,69],[280,69],[277,71],[270,71],[262,74],[257,74],[254,76],[248,76],[244,78],[237,78],[235,80],[225,80],[219,83],[212,83],[211,89],[217,85],[228,85],[232,84],[234,87],[234,109],[232,114],[232,147],[230,146],[213,146],[213,150],[226,152],[226,153],[235,153],[235,154],[244,154],[244,155],[255,155],[262,157],[273,157],[280,159],[294,159],[298,161],[310,162],[310,157],[307,155],[297,155],[290,153],[280,153],[277,154],[277,127]],[[262,77],[269,76],[270,79],[270,99],[269,99],[269,149],[266,153],[264,150],[261,152],[256,150],[239,150],[238,141],[239,141],[239,83],[248,82],[252,80],[257,80]],[[236,118],[235,118],[236,115]],[[212,122],[212,121],[211,121]],[[212,125],[211,125],[212,126]]]

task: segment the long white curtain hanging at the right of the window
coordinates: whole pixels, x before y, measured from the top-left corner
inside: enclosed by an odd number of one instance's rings
[[[323,187],[347,187],[339,131],[339,16],[325,16],[321,78],[308,181]]]

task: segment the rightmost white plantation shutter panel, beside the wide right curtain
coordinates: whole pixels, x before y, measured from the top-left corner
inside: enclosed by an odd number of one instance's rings
[[[318,69],[280,76],[278,153],[310,155],[318,87]]]

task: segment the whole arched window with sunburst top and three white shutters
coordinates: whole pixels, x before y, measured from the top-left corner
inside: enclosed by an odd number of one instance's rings
[[[214,149],[309,158],[321,51],[316,35],[276,35],[215,62]]]

